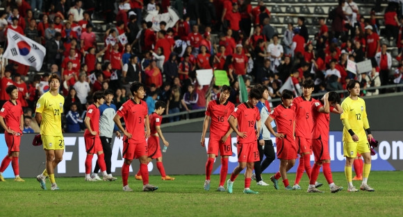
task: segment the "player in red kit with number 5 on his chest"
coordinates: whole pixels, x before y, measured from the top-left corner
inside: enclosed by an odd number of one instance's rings
[[[311,153],[312,142],[311,132],[313,128],[312,121],[312,104],[315,101],[311,97],[314,87],[313,80],[307,79],[302,83],[303,96],[294,98],[291,109],[295,112],[295,143],[297,144],[299,151],[299,164],[297,168],[297,174],[295,175],[295,182],[293,189],[299,190],[299,181],[306,171],[306,175],[310,179],[311,176]],[[316,183],[316,187],[322,186],[322,183]]]

